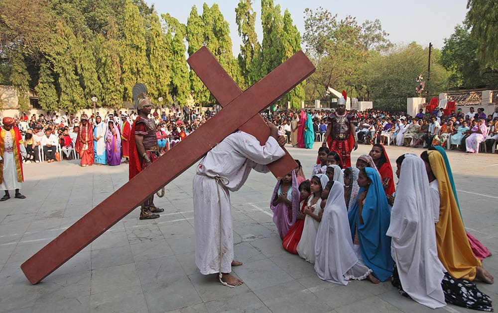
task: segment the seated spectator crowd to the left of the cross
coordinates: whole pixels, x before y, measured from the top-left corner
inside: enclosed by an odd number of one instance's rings
[[[134,110],[104,111],[104,114],[96,112],[89,116],[89,123],[96,125],[96,118],[101,117],[104,125],[110,120],[122,129],[124,120],[130,124],[136,119]],[[161,154],[171,149],[175,144],[183,140],[200,125],[206,122],[215,112],[211,109],[200,113],[199,108],[190,110],[178,109],[174,106],[166,111],[153,110],[149,118],[154,119],[156,124],[156,136],[161,148]],[[16,126],[23,135],[23,144],[27,156],[24,162],[41,161],[53,162],[56,160],[77,158],[75,151],[76,139],[79,132],[80,121],[75,114],[59,115],[56,112],[48,114],[33,114],[27,116],[14,116]],[[107,127],[107,126],[106,126]],[[105,132],[105,131],[104,131]]]

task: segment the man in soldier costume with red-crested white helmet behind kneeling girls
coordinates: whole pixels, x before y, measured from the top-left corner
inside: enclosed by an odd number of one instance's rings
[[[358,149],[354,115],[346,112],[346,91],[337,101],[337,111],[327,117],[327,132],[325,132],[322,147],[329,146],[330,151],[337,152],[345,167],[351,167],[351,152]]]

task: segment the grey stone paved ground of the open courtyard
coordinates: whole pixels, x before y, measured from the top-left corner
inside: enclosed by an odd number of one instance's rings
[[[313,150],[289,148],[306,175]],[[353,159],[368,153],[361,145]],[[389,147],[391,161],[421,149]],[[497,155],[450,153],[464,222],[498,252]],[[234,269],[245,284],[229,289],[194,263],[192,177],[195,166],[167,186],[156,204],[161,218],[139,221],[133,211],[111,230],[31,286],[20,264],[127,181],[127,166],[82,168],[77,161],[26,164],[25,200],[0,203],[0,312],[432,312],[397,294],[390,283],[338,286],[318,279],[313,266],[285,252],[275,233],[271,174],[251,173],[232,194]],[[498,277],[498,258],[484,261]],[[479,288],[497,300],[498,283]],[[455,306],[438,311],[467,312]]]

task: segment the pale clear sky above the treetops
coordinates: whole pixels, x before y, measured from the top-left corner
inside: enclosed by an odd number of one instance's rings
[[[197,6],[199,14],[202,5],[209,6],[218,3],[220,10],[230,23],[233,53],[238,55],[242,43],[235,22],[235,7],[238,0],[145,0],[147,4],[154,4],[155,10],[161,13],[170,13],[181,23],[187,23],[187,18],[193,5]],[[260,0],[253,1],[252,8],[256,12],[256,33],[258,40],[262,40]],[[448,38],[457,24],[461,24],[467,12],[467,0],[274,0],[280,4],[282,14],[288,9],[294,24],[299,32],[304,32],[304,9],[316,9],[319,6],[337,13],[339,18],[347,15],[356,16],[359,24],[365,20],[378,18],[384,30],[389,33],[389,40],[394,44],[403,44],[416,41],[426,47],[432,42],[434,47],[442,48],[444,38]]]

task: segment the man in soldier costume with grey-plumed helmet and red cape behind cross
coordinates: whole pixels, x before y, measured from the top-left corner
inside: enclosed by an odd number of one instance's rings
[[[145,94],[138,96],[138,117],[131,126],[131,136],[129,140],[129,179],[135,177],[145,167],[149,166],[159,157],[159,145],[155,134],[155,123],[147,116],[152,109],[152,102]],[[164,209],[154,205],[154,195],[141,204],[140,220],[157,219],[158,214]]]

